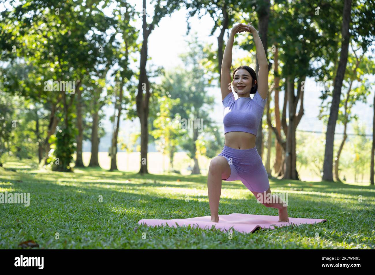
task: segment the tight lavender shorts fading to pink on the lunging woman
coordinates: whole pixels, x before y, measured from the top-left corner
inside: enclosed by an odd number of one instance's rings
[[[257,147],[242,150],[224,145],[219,156],[223,156],[231,168],[225,181],[240,180],[250,191],[259,193],[269,189],[268,174]]]

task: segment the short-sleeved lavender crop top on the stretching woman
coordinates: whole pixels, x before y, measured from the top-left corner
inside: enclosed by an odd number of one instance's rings
[[[230,92],[222,100],[222,103],[224,106],[224,134],[238,131],[257,136],[267,98],[263,99],[257,90],[253,98],[239,97],[236,100],[233,92]]]

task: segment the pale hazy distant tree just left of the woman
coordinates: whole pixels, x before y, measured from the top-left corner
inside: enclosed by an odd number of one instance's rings
[[[203,134],[211,135],[217,126],[211,121],[210,109],[207,109],[214,103],[214,98],[205,92],[208,86],[203,67],[204,60],[207,58],[205,46],[198,42],[196,36],[188,42],[188,45],[190,51],[180,55],[184,68],[175,68],[163,86],[164,89],[168,89],[168,96],[170,94],[171,99],[180,99],[181,104],[172,107],[171,116],[174,117],[175,127],[178,128],[178,137],[183,135],[181,147],[194,161],[192,174],[200,174],[197,156],[199,153],[205,154],[207,150],[199,137]],[[212,145],[211,143],[210,146]]]

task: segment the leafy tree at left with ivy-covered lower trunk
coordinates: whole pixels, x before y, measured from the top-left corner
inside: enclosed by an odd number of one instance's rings
[[[109,1],[105,1],[104,4],[108,3]],[[17,25],[21,35],[14,39],[14,36],[8,35],[11,33],[9,28],[5,28],[5,44],[10,42],[10,45],[15,45],[17,49],[13,56],[10,54],[6,56],[9,56],[12,62],[17,60],[16,56],[20,57],[26,61],[26,64],[35,68],[32,73],[28,73],[26,81],[16,80],[18,83],[16,82],[15,86],[22,86],[21,93],[25,96],[35,100],[42,99],[51,106],[44,153],[49,152],[51,145],[49,141],[56,140],[58,143],[54,152],[60,155],[55,155],[55,158],[58,158],[58,163],[62,164],[57,165],[55,162],[53,169],[69,171],[74,145],[66,142],[74,143],[76,138],[71,136],[75,135],[75,125],[72,123],[75,119],[75,92],[80,94],[82,91],[80,86],[83,84],[84,77],[89,75],[98,58],[103,54],[98,48],[106,45],[108,36],[105,34],[112,21],[98,9],[95,1],[86,7],[83,6],[82,0],[55,1],[52,6],[46,0],[29,1],[28,5],[24,6],[19,3],[13,4],[13,10],[2,12],[1,17],[6,18],[6,26],[12,23]],[[93,12],[95,16],[91,16]],[[25,36],[28,37],[26,41],[31,45],[23,42]],[[3,42],[0,43],[3,44]],[[49,70],[45,70],[45,67]],[[55,89],[54,86],[52,91],[44,89],[44,92],[40,92],[43,88],[42,82],[49,79],[58,81],[60,87]],[[26,82],[33,84],[26,86],[24,85]],[[61,85],[61,82],[65,82],[65,85]],[[67,82],[75,82],[72,91],[67,91]],[[81,116],[80,104],[78,104],[78,109],[78,114]],[[54,132],[60,120],[62,125],[57,132],[58,138],[54,139]],[[80,120],[81,118],[78,119],[79,126]],[[71,129],[66,129],[68,127]],[[81,134],[78,136],[82,137]],[[67,158],[67,160],[60,162],[62,158]]]

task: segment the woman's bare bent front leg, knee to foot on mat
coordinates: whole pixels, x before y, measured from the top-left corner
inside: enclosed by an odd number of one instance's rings
[[[208,201],[211,210],[211,222],[219,222],[219,201],[221,195],[221,181],[231,175],[231,168],[223,156],[216,156],[211,159],[208,168],[207,188]]]

